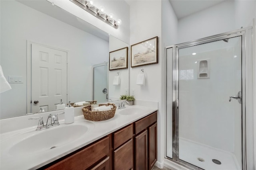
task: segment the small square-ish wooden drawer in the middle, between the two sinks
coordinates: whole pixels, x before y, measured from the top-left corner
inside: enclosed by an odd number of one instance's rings
[[[132,124],[114,133],[114,149],[132,138]]]

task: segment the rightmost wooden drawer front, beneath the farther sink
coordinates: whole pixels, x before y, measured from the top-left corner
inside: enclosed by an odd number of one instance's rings
[[[147,117],[144,117],[138,121],[136,121],[135,124],[135,135],[146,129],[148,126],[150,126],[152,123],[156,122],[156,111]]]

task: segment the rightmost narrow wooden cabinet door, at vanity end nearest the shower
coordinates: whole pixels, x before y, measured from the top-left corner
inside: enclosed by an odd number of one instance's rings
[[[157,159],[157,124],[148,128],[148,169],[152,170]]]

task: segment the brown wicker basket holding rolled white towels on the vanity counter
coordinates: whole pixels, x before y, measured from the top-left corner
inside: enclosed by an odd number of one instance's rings
[[[99,106],[108,106],[112,105],[113,108],[111,110],[107,111],[91,111],[91,105],[85,106],[82,108],[82,111],[84,112],[84,118],[90,121],[103,121],[108,120],[114,117],[116,113],[116,106],[115,104],[99,104]]]

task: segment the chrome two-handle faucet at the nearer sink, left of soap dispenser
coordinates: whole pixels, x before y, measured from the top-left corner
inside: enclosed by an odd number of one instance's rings
[[[64,114],[64,113],[65,112],[56,113],[55,115],[52,115],[52,114],[48,115],[46,125],[44,125],[42,116],[41,117],[31,117],[31,118],[29,118],[29,120],[39,119],[36,131],[40,131],[43,129],[48,129],[48,128],[60,125],[58,115]]]

